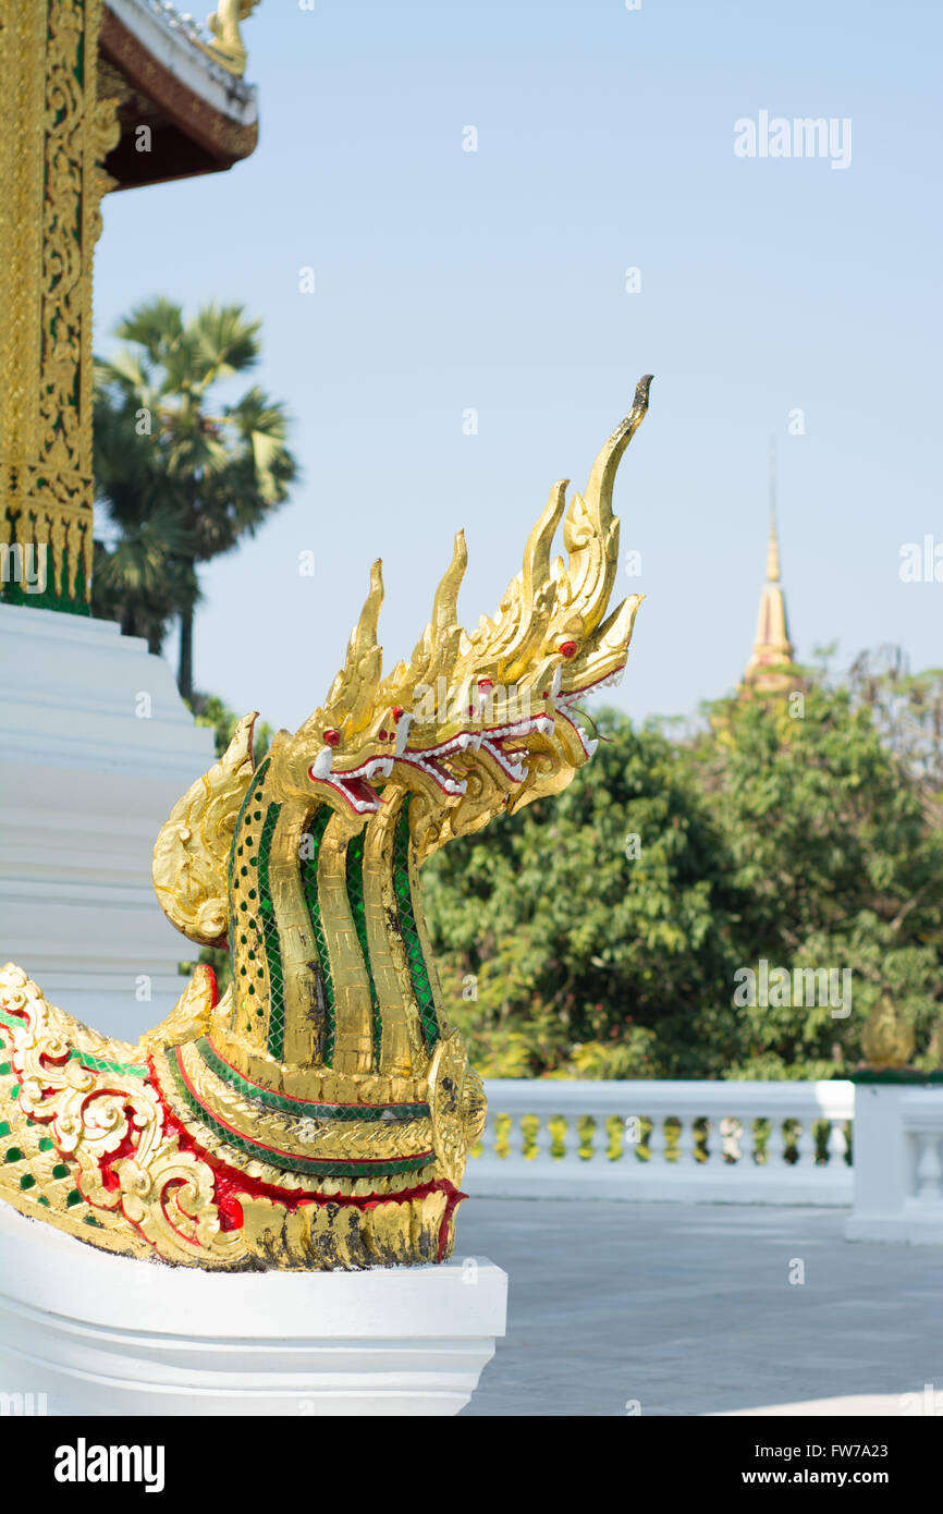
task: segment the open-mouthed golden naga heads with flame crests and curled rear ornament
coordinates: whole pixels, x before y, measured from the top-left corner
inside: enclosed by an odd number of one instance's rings
[[[568,506],[569,481],[552,486],[521,571],[496,615],[481,616],[471,634],[457,615],[468,562],[459,531],[430,621],[409,663],[397,663],[386,678],[377,640],[383,575],[374,563],[344,668],[324,704],[294,734],[282,730],[272,739],[265,777],[271,802],[309,816],[327,808],[333,834],[353,839],[374,821],[381,825],[406,792],[418,799],[410,830],[421,861],[495,815],[566,787],[595,749],[578,701],[618,683],[640,604],[640,595],[630,595],[607,615],[619,566],[613,483],[648,409],[649,385],[651,375],[639,380],[631,410],[596,457],[586,491]],[[560,522],[566,559],[552,559]],[[194,940],[224,939],[232,802],[251,772],[247,716],[218,777],[210,783],[207,775],[183,796],[159,837],[154,886],[168,916]],[[191,821],[183,831],[180,825],[191,812],[203,813],[206,793],[216,787],[224,799],[210,812],[212,846],[206,824],[200,830],[212,854],[207,863],[188,839]],[[189,880],[183,890],[182,869]]]

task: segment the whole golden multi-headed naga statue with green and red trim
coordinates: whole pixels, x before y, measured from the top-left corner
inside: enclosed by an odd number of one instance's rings
[[[648,407],[566,507],[554,484],[495,619],[456,618],[465,542],[410,663],[384,678],[380,563],[324,706],[253,765],[254,715],[174,807],[154,889],[197,967],[136,1046],[0,972],[0,1198],[94,1246],[213,1269],[451,1255],[481,1081],[447,1020],[419,866],[559,793],[592,757],[575,701],[625,666],[640,603],[607,615],[612,494]],[[551,560],[563,519],[568,562]]]

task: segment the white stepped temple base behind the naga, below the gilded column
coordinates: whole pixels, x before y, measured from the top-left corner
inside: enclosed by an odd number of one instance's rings
[[[213,763],[162,657],[112,621],[0,604],[0,961],[107,1036],[174,1005],[191,946],[154,837]]]

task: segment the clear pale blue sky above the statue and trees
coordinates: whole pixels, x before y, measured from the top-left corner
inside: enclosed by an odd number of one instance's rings
[[[297,725],[371,559],[392,662],[459,525],[465,622],[492,612],[549,484],[584,484],[649,371],[616,491],[643,566],[621,587],[648,595],[618,702],[683,715],[737,681],[770,433],[799,657],[941,663],[943,583],[898,574],[904,542],[943,542],[941,32],[907,0],[262,0],[254,156],[109,197],[95,266],[100,351],[144,297],[242,301],[295,418],[292,503],[204,571],[198,686]],[[734,156],[760,111],[851,118],[851,167]]]

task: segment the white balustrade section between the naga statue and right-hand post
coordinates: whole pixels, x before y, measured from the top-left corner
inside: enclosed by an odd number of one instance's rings
[[[846,1128],[854,1120],[855,1090],[843,1079],[500,1078],[486,1083],[486,1093],[487,1128],[463,1181],[471,1195],[852,1202]],[[595,1129],[592,1139],[581,1140],[580,1123],[587,1117]],[[618,1136],[612,1131],[615,1122]],[[699,1139],[701,1122],[705,1142]],[[817,1132],[819,1125],[828,1129]],[[562,1155],[556,1154],[560,1140]],[[941,1178],[943,1169],[937,1172],[928,1157],[925,1184],[938,1188]]]

